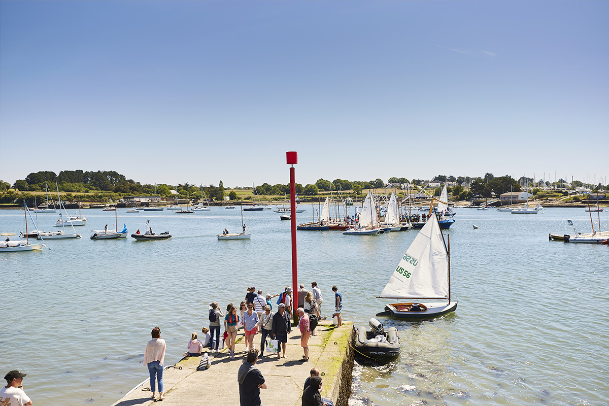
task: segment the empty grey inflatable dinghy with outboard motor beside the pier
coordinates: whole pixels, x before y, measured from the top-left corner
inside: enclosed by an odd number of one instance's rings
[[[357,327],[354,338],[355,349],[358,354],[373,360],[382,360],[400,355],[400,335],[398,329],[389,327],[384,331],[381,322],[371,318],[370,331],[366,327]]]

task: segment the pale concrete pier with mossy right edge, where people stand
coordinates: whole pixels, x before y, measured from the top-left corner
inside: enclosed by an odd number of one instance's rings
[[[277,359],[276,354],[258,358],[258,368],[267,389],[260,390],[264,406],[300,406],[303,385],[309,371],[315,367],[322,371],[322,397],[332,399],[337,406],[347,406],[351,393],[351,370],[353,369],[353,350],[350,347],[353,325],[343,323],[340,328],[329,321],[320,321],[314,335],[309,340],[309,361],[302,362],[303,349],[300,346],[300,331],[292,327],[287,338],[286,357]],[[186,343],[185,343],[186,344]],[[260,335],[254,338],[259,349]],[[186,345],[185,345],[186,346]],[[205,349],[208,351],[208,349]],[[244,335],[239,332],[235,346],[235,359],[230,359],[227,348],[219,354],[209,352],[211,367],[197,371],[200,357],[181,360],[163,373],[163,406],[210,404],[214,406],[239,406],[239,385],[237,371],[245,361]],[[147,370],[142,368],[142,376]],[[151,405],[150,382],[127,393],[113,406]],[[158,393],[157,393],[158,397]],[[158,403],[158,402],[157,402]]]

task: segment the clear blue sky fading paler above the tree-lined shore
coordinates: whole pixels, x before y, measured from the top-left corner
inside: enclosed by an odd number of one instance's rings
[[[1,1],[0,179],[609,175],[607,1]]]

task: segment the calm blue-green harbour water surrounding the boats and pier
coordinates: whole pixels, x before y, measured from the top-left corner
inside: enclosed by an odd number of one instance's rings
[[[572,231],[567,219],[588,231],[588,214],[457,213],[446,233],[457,312],[418,323],[382,319],[400,330],[401,357],[356,365],[350,405],[606,405],[609,247],[547,240]],[[252,284],[273,294],[291,284],[290,225],[274,212],[247,214],[250,241],[216,240],[224,228],[239,229],[238,209],[119,211],[119,226],[130,233],[150,220],[156,233],[174,235],[157,242],[90,240],[90,229],[113,228],[114,215],[83,215],[83,239],[0,258],[0,371],[26,372],[24,388],[37,405],[111,404],[146,379],[152,327],[161,327],[171,365],[190,333],[208,324],[208,303],[238,303]],[[310,218],[310,207],[299,214]],[[38,215],[38,228],[49,230],[56,219]],[[601,223],[607,229],[606,212]],[[0,211],[0,231],[23,229],[23,212]],[[367,324],[416,233],[299,231],[299,281],[318,282],[328,315],[338,285],[343,318]]]

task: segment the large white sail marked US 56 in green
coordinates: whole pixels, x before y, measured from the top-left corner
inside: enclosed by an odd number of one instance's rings
[[[435,215],[421,228],[380,298],[447,299],[448,253]]]

